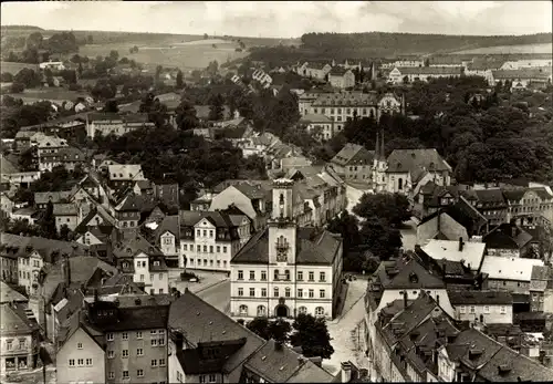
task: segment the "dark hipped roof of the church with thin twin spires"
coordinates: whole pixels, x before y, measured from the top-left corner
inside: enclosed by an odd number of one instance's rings
[[[394,149],[389,154],[387,172],[420,173],[421,169],[434,172],[451,172],[451,166],[435,148],[427,149]]]

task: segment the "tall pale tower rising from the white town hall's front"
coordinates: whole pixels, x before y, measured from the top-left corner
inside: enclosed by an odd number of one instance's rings
[[[286,178],[273,181],[273,208],[269,227],[269,263],[294,264],[296,224],[293,217],[294,181]]]

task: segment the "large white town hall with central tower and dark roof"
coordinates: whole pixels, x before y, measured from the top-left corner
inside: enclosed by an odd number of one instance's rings
[[[231,260],[231,316],[332,319],[342,287],[342,239],[292,220],[293,180],[273,184],[272,218]]]

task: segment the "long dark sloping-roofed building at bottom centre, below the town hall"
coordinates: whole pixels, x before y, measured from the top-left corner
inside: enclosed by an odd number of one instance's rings
[[[171,303],[168,324],[169,383],[328,383],[341,378],[321,367],[316,357],[262,340],[188,289]]]

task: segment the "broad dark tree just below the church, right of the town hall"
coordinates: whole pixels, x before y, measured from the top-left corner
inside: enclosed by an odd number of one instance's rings
[[[364,194],[353,211],[364,219],[376,217],[394,228],[411,217],[409,200],[401,194]]]

